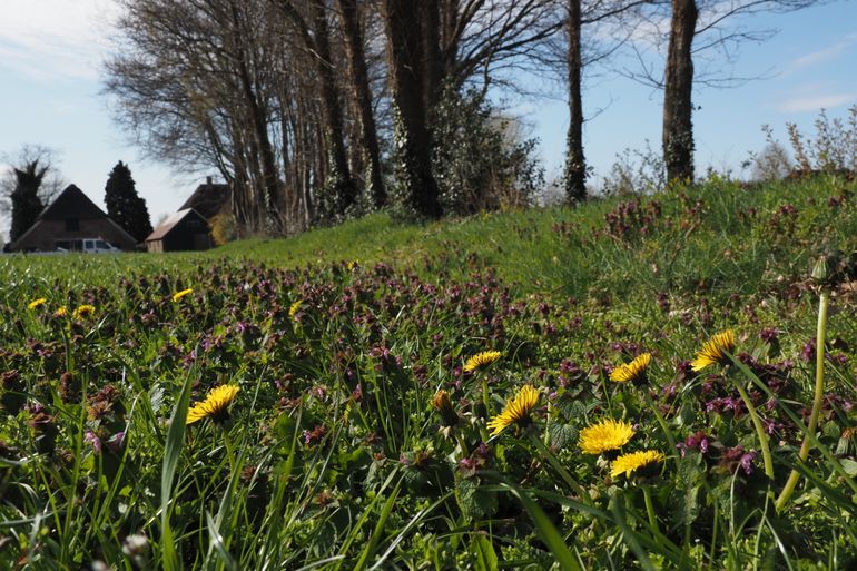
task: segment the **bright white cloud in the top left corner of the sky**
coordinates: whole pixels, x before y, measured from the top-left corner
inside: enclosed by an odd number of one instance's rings
[[[3,0],[0,66],[39,80],[98,76],[115,0]]]

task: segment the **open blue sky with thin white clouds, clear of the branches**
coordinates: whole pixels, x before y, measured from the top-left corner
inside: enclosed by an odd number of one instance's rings
[[[99,75],[116,14],[112,0],[0,0],[0,152],[24,144],[50,147],[66,180],[102,205],[107,175],[129,164],[152,223],[174,211],[201,180],[147,164],[111,122]],[[100,22],[100,23],[99,23]],[[844,117],[857,104],[857,1],[840,0],[790,14],[743,20],[777,28],[761,45],[746,45],[737,76],[768,75],[735,89],[698,89],[695,102],[697,173],[707,166],[740,175],[740,163],[765,145],[764,124],[786,142],[785,124],[812,132],[821,108]],[[625,148],[660,145],[661,93],[623,78],[598,78],[584,91],[590,117],[585,154],[605,174]],[[598,109],[602,109],[595,114]],[[568,116],[558,100],[519,101],[549,178],[562,165]],[[4,229],[4,228],[3,228]]]

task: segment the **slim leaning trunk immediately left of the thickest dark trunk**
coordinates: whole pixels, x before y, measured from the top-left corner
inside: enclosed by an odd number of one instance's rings
[[[372,112],[372,90],[370,88],[366,57],[363,51],[363,31],[359,24],[357,0],[339,0],[343,28],[348,51],[348,69],[351,71],[354,102],[359,117],[361,140],[365,161],[368,164],[366,184],[375,208],[383,207],[387,201],[384,179],[381,176],[381,150],[378,146],[375,116]]]

